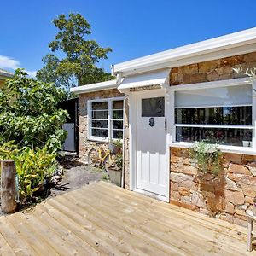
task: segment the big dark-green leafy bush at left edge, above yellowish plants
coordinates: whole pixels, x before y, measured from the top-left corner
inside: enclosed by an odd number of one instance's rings
[[[17,69],[0,90],[0,143],[15,141],[19,148],[61,148],[66,131],[61,129],[68,116],[58,104],[67,93],[54,84],[28,78]]]

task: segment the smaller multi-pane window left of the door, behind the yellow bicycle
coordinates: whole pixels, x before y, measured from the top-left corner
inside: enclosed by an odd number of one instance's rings
[[[123,138],[123,98],[93,100],[88,102],[88,137],[108,141]]]

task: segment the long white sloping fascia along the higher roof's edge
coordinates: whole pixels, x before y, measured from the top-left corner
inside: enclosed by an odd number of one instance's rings
[[[173,61],[180,61],[180,65],[183,65],[182,60],[193,58],[193,57],[200,57],[201,55],[212,54],[215,52],[221,52],[228,49],[239,49],[239,47],[244,47],[246,45],[256,44],[256,27],[251,29],[247,29],[245,31],[231,33],[229,35],[225,35],[218,38],[212,38],[205,41],[201,41],[195,44],[189,44],[182,47],[178,47],[176,49],[169,49],[166,51],[162,51],[160,53],[154,55],[144,56],[142,58],[137,58],[131,61],[125,61],[119,64],[114,65],[114,73],[128,73],[134,72],[136,73],[137,70],[152,67],[157,67],[157,65],[169,62],[172,64]],[[251,52],[251,49],[243,49],[242,52]],[[254,48],[255,51],[255,48]],[[231,55],[233,53],[230,52]],[[238,54],[241,54],[238,51]],[[227,55],[228,56],[228,55]],[[193,60],[191,60],[193,61]],[[187,65],[187,64],[184,64]],[[163,66],[161,66],[163,67]],[[173,66],[172,66],[173,67]],[[158,66],[160,68],[160,66]]]

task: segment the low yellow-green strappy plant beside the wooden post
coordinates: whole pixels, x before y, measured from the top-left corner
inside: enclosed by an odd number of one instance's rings
[[[3,143],[0,147],[0,159],[15,160],[16,174],[19,178],[19,197],[21,203],[32,200],[33,193],[44,185],[55,171],[55,153],[48,148],[17,149],[13,142]]]

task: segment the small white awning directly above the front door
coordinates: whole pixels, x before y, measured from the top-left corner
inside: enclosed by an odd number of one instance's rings
[[[169,82],[170,68],[165,70],[160,70],[152,73],[141,73],[138,75],[130,76],[119,84],[119,90],[125,90],[129,88],[137,88],[142,86],[150,85],[164,85]]]

